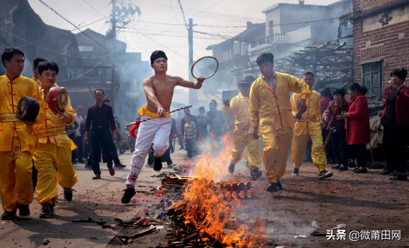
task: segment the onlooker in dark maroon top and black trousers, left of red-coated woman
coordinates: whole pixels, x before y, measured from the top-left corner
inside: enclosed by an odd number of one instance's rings
[[[332,166],[331,169],[339,169],[339,171],[348,171],[345,118],[342,114],[348,112],[349,104],[344,97],[344,88],[335,90],[335,100],[330,102],[323,113],[323,121],[327,125],[327,132],[331,135],[332,147],[337,157],[337,166]]]

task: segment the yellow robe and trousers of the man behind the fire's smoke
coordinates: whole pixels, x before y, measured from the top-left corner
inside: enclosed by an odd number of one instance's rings
[[[235,116],[236,128],[233,131],[233,150],[231,151],[231,164],[237,164],[242,158],[242,152],[247,147],[247,159],[249,169],[260,169],[260,140],[253,139],[253,126],[249,118],[249,98],[247,95],[238,93],[230,101],[230,107],[223,106],[223,113],[226,116]]]

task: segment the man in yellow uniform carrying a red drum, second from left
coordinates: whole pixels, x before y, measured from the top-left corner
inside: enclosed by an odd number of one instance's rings
[[[65,200],[71,201],[72,187],[77,183],[77,173],[71,162],[72,141],[65,134],[65,126],[75,123],[70,98],[64,112],[52,111],[45,101],[45,96],[55,85],[58,72],[59,67],[55,62],[44,62],[38,65],[42,96],[40,111],[45,112],[43,115],[45,120],[35,125],[39,145],[34,150],[33,156],[34,165],[38,170],[37,201],[43,207],[40,218],[54,215],[58,185],[64,189]]]

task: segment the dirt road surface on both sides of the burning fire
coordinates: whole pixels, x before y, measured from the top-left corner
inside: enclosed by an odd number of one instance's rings
[[[177,151],[173,162],[185,160],[185,153]],[[130,154],[121,156],[123,164],[128,164]],[[164,164],[164,171],[170,171]],[[75,166],[79,182],[75,186],[72,202],[59,200],[56,217],[38,219],[40,207],[31,205],[30,220],[15,219],[0,222],[0,247],[105,247],[118,230],[103,229],[95,223],[72,223],[72,219],[103,219],[112,222],[114,217],[131,219],[139,216],[160,214],[163,209],[155,209],[164,196],[147,195],[153,187],[160,185],[160,178],[153,169],[144,167],[138,179],[135,202],[126,206],[120,203],[122,189],[128,169],[116,171],[111,177],[106,167],[102,167],[102,180],[91,180],[92,171]],[[163,171],[162,171],[163,172]],[[268,235],[268,247],[407,247],[409,245],[409,183],[388,180],[378,175],[380,171],[368,174],[354,174],[351,171],[334,171],[328,180],[317,179],[317,169],[312,164],[303,164],[300,177],[291,176],[288,164],[286,176],[281,183],[284,191],[271,195],[265,192],[268,182],[265,178],[252,182],[253,199],[236,203],[236,214],[249,224],[256,218],[264,223],[263,232]],[[236,166],[235,176],[246,180],[249,172],[244,162]],[[60,189],[60,193],[62,191]],[[81,196],[79,196],[81,195]],[[338,224],[346,224],[346,240],[327,240],[325,236],[312,237],[311,222],[321,225],[319,233],[327,233]],[[360,240],[350,241],[350,231],[401,231],[401,240]],[[129,231],[129,230],[128,230]],[[127,232],[127,231],[122,231]],[[125,247],[148,248],[167,242],[166,231],[145,235],[133,240]],[[306,235],[307,238],[294,238]],[[371,235],[369,236],[371,239]],[[376,236],[374,237],[376,238]],[[373,239],[373,238],[372,238]],[[49,240],[47,246],[44,242]],[[121,247],[124,245],[121,245]],[[108,247],[119,247],[114,242]]]

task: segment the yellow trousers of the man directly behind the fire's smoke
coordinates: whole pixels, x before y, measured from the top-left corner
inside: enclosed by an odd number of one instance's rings
[[[249,169],[260,169],[260,139],[253,139],[253,134],[249,134],[248,128],[241,130],[236,127],[233,131],[233,149],[231,150],[230,162],[237,164],[242,159],[243,150],[246,150],[246,157],[249,161]]]

